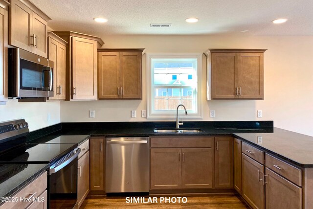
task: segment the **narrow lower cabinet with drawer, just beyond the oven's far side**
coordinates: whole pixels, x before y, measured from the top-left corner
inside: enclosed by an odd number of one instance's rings
[[[89,193],[90,178],[89,178],[89,140],[82,143],[78,148],[81,149],[82,155],[78,156],[77,162],[77,204],[78,208],[83,204]]]

